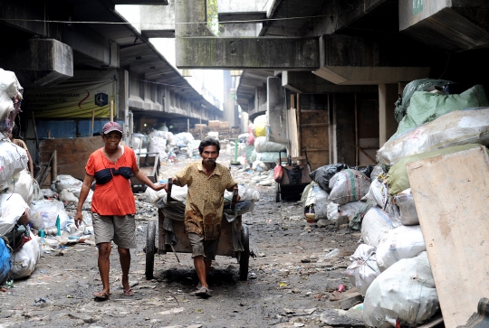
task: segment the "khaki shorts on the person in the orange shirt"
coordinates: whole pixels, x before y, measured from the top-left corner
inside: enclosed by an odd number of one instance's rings
[[[91,213],[95,243],[114,243],[120,248],[136,248],[136,220],[134,215],[100,215]]]

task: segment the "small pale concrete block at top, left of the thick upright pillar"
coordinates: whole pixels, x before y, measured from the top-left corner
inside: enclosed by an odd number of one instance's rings
[[[141,5],[141,33],[148,38],[175,37],[175,0],[168,5]]]

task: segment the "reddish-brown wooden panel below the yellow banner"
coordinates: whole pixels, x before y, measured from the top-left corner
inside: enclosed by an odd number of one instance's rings
[[[101,136],[72,139],[45,139],[39,145],[39,157],[47,164],[53,151],[57,151],[58,174],[69,174],[83,180],[85,164],[91,153],[103,146]]]

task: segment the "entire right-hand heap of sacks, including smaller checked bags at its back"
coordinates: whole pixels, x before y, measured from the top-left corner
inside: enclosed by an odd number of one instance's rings
[[[313,182],[302,194],[306,220],[347,216],[350,229],[361,231],[347,276],[365,296],[362,319],[369,327],[417,325],[439,311],[406,164],[489,145],[483,86],[449,94],[454,86],[446,80],[409,83],[396,103],[398,131],[380,147],[373,170],[323,166],[311,173]],[[357,210],[343,211],[347,204]]]

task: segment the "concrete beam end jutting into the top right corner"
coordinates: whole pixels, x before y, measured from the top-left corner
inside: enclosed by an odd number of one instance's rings
[[[399,30],[446,52],[489,46],[486,0],[399,0]]]

